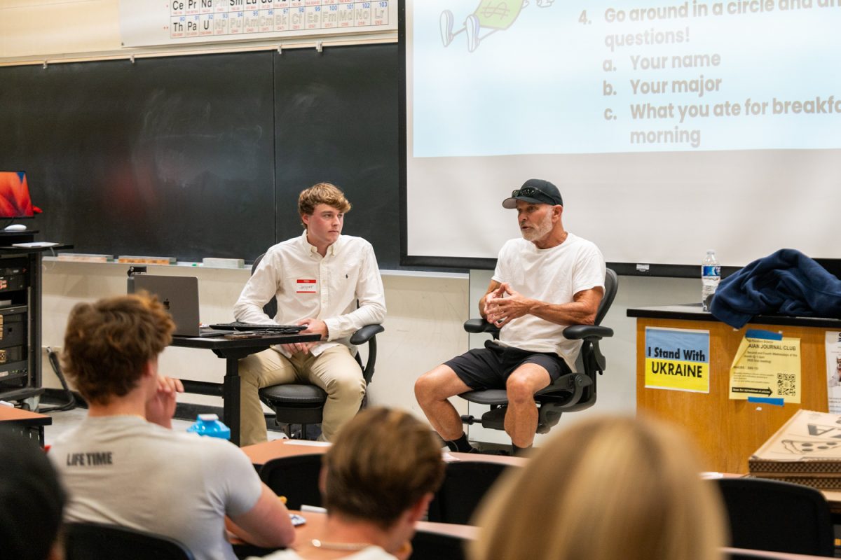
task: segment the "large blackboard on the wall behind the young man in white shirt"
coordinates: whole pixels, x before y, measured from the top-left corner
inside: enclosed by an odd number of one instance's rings
[[[254,259],[330,181],[344,233],[399,268],[394,44],[0,68],[0,170],[39,239],[97,254]]]

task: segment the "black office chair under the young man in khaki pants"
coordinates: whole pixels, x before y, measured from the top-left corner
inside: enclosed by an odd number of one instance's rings
[[[260,264],[261,254],[251,265],[251,274],[257,270]],[[268,317],[275,317],[278,314],[278,299],[272,299],[263,306],[263,312]],[[377,363],[377,335],[385,329],[382,325],[365,325],[351,335],[351,343],[360,346],[368,343],[368,359],[362,364],[362,359],[357,352],[355,358],[357,364],[362,368],[362,377],[365,385],[368,386],[373,378],[373,367]],[[288,437],[292,437],[291,427],[295,424],[301,426],[301,437],[306,437],[306,428],[309,424],[320,424],[324,413],[324,403],[327,401],[327,393],[317,385],[272,385],[260,390],[260,400],[274,411],[274,421],[278,426],[284,427]],[[364,403],[364,401],[363,401]]]

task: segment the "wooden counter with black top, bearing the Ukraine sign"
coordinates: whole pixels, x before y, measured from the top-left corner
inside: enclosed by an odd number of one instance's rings
[[[841,321],[812,317],[754,317],[741,329],[717,321],[701,306],[629,309],[637,317],[637,411],[685,428],[701,448],[706,468],[747,473],[748,457],[799,409],[828,411],[824,333]],[[668,327],[710,332],[710,393],[646,389],[645,329]],[[773,406],[728,398],[730,366],[748,328],[782,332],[801,340],[801,404]]]

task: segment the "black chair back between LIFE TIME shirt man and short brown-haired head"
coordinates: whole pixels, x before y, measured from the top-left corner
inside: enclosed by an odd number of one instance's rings
[[[301,505],[321,505],[319,474],[322,453],[279,457],[260,469],[260,479],[278,496],[286,497],[286,507],[300,510]]]

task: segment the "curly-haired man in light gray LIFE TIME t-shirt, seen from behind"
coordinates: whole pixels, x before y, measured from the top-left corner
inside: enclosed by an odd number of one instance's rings
[[[286,507],[245,453],[224,440],[172,432],[177,379],[157,373],[172,340],[159,301],[118,296],[71,311],[62,360],[87,418],[50,449],[70,499],[65,521],[169,536],[198,558],[235,558],[225,526],[247,542],[294,540]]]

